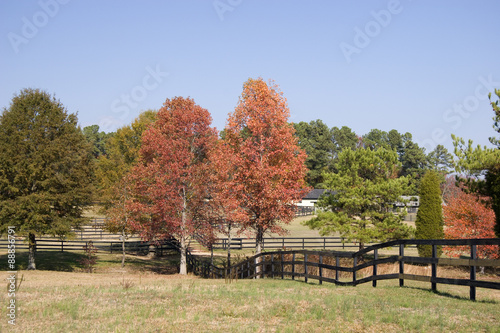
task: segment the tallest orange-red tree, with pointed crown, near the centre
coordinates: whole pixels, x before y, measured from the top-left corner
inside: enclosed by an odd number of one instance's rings
[[[256,253],[264,233],[284,232],[298,203],[309,189],[304,177],[306,154],[288,122],[286,99],[272,82],[249,79],[229,115],[224,143],[234,155],[231,188],[248,214],[243,223],[256,232]]]

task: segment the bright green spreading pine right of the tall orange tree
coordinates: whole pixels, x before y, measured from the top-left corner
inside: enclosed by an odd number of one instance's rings
[[[322,235],[339,232],[359,242],[360,249],[367,242],[410,237],[412,229],[402,223],[404,215],[393,213],[407,185],[406,178],[397,177],[400,167],[393,150],[344,149],[338,156],[338,172],[325,174],[331,193],[318,203],[324,211],[306,225]]]

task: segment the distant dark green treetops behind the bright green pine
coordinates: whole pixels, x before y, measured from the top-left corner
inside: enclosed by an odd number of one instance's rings
[[[402,134],[395,129],[389,132],[372,129],[359,136],[347,126],[329,128],[319,119],[309,123],[299,122],[294,127],[299,144],[307,153],[307,183],[315,188],[325,188],[325,172],[338,171],[339,154],[344,149],[384,148],[395,151],[401,164],[398,176],[409,180],[407,195],[418,194],[420,181],[427,170],[437,171],[444,182],[444,176],[453,167],[453,155],[444,146],[438,145],[427,154],[408,132]]]

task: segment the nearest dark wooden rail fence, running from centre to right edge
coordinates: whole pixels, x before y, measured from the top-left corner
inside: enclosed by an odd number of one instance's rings
[[[408,245],[432,246],[432,257],[405,256],[405,246]],[[438,246],[464,245],[470,248],[468,258],[438,258],[436,255]],[[462,285],[470,288],[470,299],[475,300],[476,288],[478,287],[500,289],[500,281],[481,281],[476,278],[477,267],[500,266],[500,260],[477,258],[477,246],[482,245],[500,245],[500,239],[397,240],[369,246],[358,252],[309,250],[264,252],[234,264],[228,269],[216,267],[206,260],[188,255],[188,264],[195,274],[210,278],[281,277],[284,279],[286,276],[291,277],[291,279],[300,277],[305,282],[308,282],[309,279],[318,280],[320,284],[330,282],[355,286],[372,282],[373,287],[377,286],[379,280],[399,279],[400,286],[404,286],[405,280],[429,282],[433,291],[437,290],[437,284]],[[379,257],[378,251],[389,247],[399,248],[399,255]],[[365,259],[368,261],[364,261]],[[378,265],[388,263],[397,263],[399,272],[378,274]],[[430,264],[431,274],[427,276],[405,273],[405,264]],[[470,277],[469,279],[438,277],[437,267],[439,265],[466,266],[470,270]],[[363,277],[359,276],[361,272]],[[346,274],[349,275],[347,279]]]

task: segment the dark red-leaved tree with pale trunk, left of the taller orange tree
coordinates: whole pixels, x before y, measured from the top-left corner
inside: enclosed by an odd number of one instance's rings
[[[190,98],[167,99],[142,136],[139,162],[131,172],[130,223],[147,241],[176,238],[180,274],[187,273],[190,240],[214,239],[203,213],[209,198],[207,156],[217,140],[211,120],[209,112]]]

